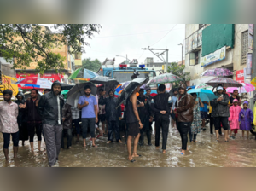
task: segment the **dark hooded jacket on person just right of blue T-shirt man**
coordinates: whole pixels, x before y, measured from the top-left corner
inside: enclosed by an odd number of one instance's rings
[[[108,91],[108,96],[111,91],[113,91],[113,90]],[[108,98],[105,98],[101,102],[101,105],[106,104],[105,110],[106,110],[107,121],[118,121],[119,117],[122,117],[121,107],[118,107],[116,109],[117,100],[118,99],[115,96],[113,96],[113,97],[109,96]]]

